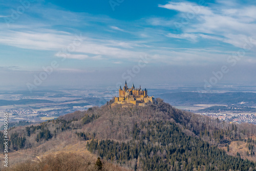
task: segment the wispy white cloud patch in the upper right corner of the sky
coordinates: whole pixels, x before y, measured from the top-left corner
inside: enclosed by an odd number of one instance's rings
[[[223,3],[208,4],[209,7],[188,2],[169,2],[166,5],[159,5],[161,8],[180,12],[176,15],[176,21],[183,26],[181,27],[183,33],[169,33],[166,36],[190,41],[199,41],[199,37],[215,39],[242,48],[246,40],[245,37],[256,36],[254,31],[256,28],[256,7],[245,7],[231,1],[225,1],[225,5]],[[187,13],[194,13],[195,15],[188,18]],[[182,19],[185,19],[187,23],[182,24]]]

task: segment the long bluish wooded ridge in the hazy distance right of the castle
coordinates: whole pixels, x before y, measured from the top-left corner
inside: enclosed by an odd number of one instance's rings
[[[156,95],[172,105],[193,105],[193,104],[238,104],[256,105],[256,93],[164,93]]]

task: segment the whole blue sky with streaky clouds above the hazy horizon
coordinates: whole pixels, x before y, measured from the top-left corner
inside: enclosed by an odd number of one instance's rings
[[[0,1],[1,89],[253,86],[255,1]]]

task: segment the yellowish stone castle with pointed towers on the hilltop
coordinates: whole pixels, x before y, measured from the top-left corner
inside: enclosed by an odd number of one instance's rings
[[[154,101],[154,96],[148,96],[147,90],[142,90],[141,87],[135,89],[133,84],[132,88],[128,88],[127,83],[125,81],[123,89],[119,88],[119,97],[115,96],[115,104],[125,104],[131,103],[138,106],[146,105],[147,103],[152,103]]]

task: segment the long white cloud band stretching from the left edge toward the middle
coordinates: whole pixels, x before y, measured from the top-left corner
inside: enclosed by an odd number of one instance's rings
[[[32,50],[50,50],[60,51],[68,48],[73,44],[76,36],[68,32],[58,32],[54,30],[37,30],[37,32],[20,32],[20,31],[1,31],[0,44],[9,45],[17,48]],[[68,58],[73,59],[102,59],[102,57],[136,59],[142,54],[134,50],[126,50],[123,48],[133,49],[140,47],[139,41],[116,41],[102,40],[82,37],[83,41],[80,46],[75,48],[75,53]],[[56,55],[57,57],[63,57]]]

